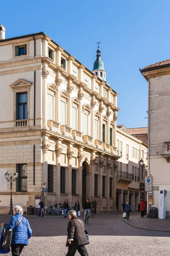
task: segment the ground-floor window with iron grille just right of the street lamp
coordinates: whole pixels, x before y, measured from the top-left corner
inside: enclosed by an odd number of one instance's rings
[[[17,164],[17,192],[27,192],[27,164]]]

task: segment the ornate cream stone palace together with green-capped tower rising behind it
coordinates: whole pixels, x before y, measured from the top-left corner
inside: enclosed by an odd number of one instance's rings
[[[45,33],[5,39],[0,25],[0,212],[96,198],[116,210],[118,94],[106,81],[98,47],[91,71]]]

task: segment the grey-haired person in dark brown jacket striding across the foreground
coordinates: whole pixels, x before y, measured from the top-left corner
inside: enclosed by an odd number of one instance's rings
[[[87,237],[85,235],[84,223],[77,217],[76,211],[71,210],[68,212],[68,222],[67,228],[67,243],[68,253],[66,256],[74,256],[78,250],[81,256],[88,256],[88,251],[85,244],[88,244]]]

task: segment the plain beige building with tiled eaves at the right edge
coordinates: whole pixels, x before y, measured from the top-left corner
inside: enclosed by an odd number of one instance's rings
[[[148,81],[148,175],[153,181],[153,207],[167,189],[166,215],[170,218],[170,60],[140,70]]]

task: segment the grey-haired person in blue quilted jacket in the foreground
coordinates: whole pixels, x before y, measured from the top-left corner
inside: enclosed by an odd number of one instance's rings
[[[14,206],[14,215],[9,223],[2,223],[1,227],[5,230],[12,230],[11,253],[12,256],[19,256],[25,245],[28,245],[28,239],[32,236],[32,230],[28,220],[23,217],[23,208],[19,205]]]

